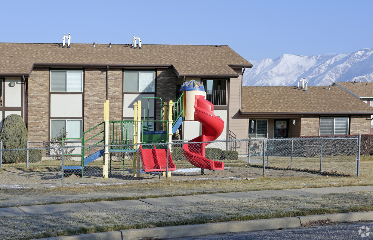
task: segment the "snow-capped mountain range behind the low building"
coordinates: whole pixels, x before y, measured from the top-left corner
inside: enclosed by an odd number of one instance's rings
[[[373,81],[373,49],[318,56],[284,54],[276,59],[250,61],[244,86],[296,86],[305,78],[308,86],[327,86],[334,81]]]

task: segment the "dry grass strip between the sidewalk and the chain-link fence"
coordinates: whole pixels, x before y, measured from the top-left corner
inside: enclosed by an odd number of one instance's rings
[[[139,198],[173,197],[221,192],[276,189],[364,186],[372,184],[372,176],[357,177],[288,177],[242,180],[188,180],[117,184],[88,187],[55,187],[31,189],[1,189],[0,207],[132,200]]]

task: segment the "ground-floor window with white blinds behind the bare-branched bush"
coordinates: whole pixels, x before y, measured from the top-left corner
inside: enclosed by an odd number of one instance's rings
[[[82,137],[82,120],[80,119],[59,119],[50,121],[50,136],[61,137],[65,129],[68,138]]]

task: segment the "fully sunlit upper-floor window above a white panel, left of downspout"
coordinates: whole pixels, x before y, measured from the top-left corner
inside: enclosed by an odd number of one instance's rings
[[[82,92],[83,71],[50,71],[51,92]]]

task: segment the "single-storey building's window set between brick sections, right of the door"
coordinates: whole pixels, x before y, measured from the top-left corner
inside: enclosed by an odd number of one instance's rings
[[[348,117],[320,117],[320,135],[347,135]]]

